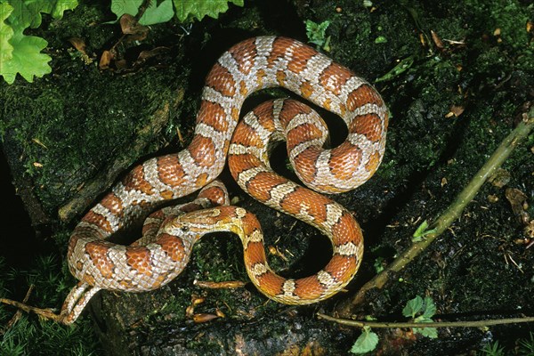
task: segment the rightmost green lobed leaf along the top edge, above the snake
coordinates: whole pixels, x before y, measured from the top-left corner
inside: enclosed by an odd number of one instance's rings
[[[174,0],[176,17],[181,22],[202,20],[204,16],[217,19],[219,13],[228,11],[228,3],[243,6],[244,0]]]

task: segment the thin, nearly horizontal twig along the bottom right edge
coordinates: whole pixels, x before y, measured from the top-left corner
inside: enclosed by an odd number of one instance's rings
[[[476,321],[434,321],[425,323],[415,322],[379,322],[379,321],[360,321],[334,318],[320,312],[317,313],[320,319],[335,321],[338,324],[347,325],[355,328],[482,328],[493,325],[517,324],[534,322],[534,317],[493,319],[493,320],[476,320]]]

